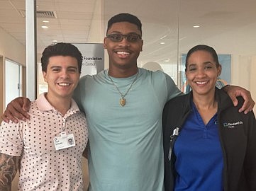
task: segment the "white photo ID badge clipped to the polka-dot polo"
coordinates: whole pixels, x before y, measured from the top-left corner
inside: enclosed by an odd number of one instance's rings
[[[76,145],[74,141],[74,134],[66,134],[65,132],[61,132],[59,137],[54,137],[53,141],[56,151]]]

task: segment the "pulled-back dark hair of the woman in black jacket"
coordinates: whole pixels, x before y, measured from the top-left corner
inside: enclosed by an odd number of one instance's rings
[[[191,48],[191,50],[189,50],[189,52],[187,52],[187,57],[186,57],[186,68],[185,68],[185,71],[187,71],[187,60],[189,59],[190,55],[196,51],[199,51],[199,50],[204,50],[208,53],[210,53],[213,57],[213,60],[214,62],[216,62],[216,66],[221,66],[221,64],[219,63],[218,61],[218,54],[217,52],[213,49],[213,47],[210,47],[208,45],[196,45],[194,47]]]

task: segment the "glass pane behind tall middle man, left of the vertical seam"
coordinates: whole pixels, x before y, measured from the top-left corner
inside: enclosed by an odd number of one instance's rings
[[[138,66],[169,74],[179,84],[179,1],[107,1],[104,4],[105,26],[117,13],[132,13],[143,23],[143,52]]]

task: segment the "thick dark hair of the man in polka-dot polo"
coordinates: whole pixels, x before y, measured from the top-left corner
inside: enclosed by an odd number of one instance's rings
[[[75,59],[77,59],[79,74],[81,73],[82,54],[76,46],[66,42],[59,42],[55,45],[49,45],[48,47],[46,47],[41,57],[42,71],[47,71],[49,58],[55,56],[74,57]]]

